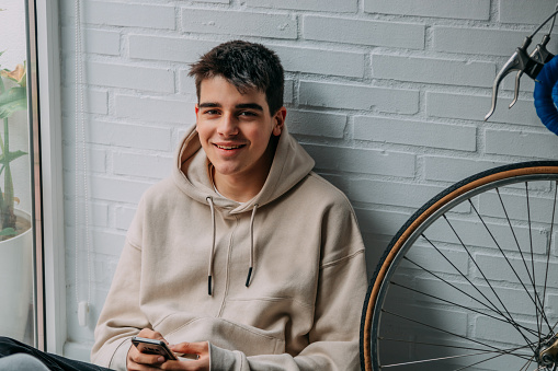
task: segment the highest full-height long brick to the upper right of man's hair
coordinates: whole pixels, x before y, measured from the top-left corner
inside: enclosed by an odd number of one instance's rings
[[[424,25],[306,15],[303,36],[321,42],[423,49]]]

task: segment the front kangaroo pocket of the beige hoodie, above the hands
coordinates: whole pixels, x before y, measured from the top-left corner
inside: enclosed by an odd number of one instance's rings
[[[184,314],[174,314],[153,327],[170,344],[209,340],[217,347],[240,350],[247,356],[274,355],[285,348],[285,341],[270,332],[224,318],[186,318]]]

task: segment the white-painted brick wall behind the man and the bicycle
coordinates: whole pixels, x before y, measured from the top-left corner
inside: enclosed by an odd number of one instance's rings
[[[369,269],[407,218],[452,183],[500,164],[558,156],[558,138],[538,120],[527,78],[512,109],[513,78],[505,80],[496,114],[483,121],[497,71],[554,0],[81,2],[94,251],[87,328],[77,325],[73,294],[73,1],[60,1],[66,349],[73,357],[88,357],[141,193],[169,174],[174,147],[194,123],[189,63],[221,42],[260,42],[282,58],[288,126],[317,171],[355,206]],[[78,207],[82,212],[82,200]],[[83,291],[86,247],[78,247]]]

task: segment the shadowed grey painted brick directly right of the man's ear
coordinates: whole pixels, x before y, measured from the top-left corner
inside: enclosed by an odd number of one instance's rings
[[[287,126],[291,134],[314,137],[343,138],[346,116],[310,111],[287,111]]]

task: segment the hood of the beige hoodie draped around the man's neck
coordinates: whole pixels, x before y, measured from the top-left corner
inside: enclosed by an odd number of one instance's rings
[[[173,179],[191,198],[208,204],[226,213],[240,213],[262,207],[281,197],[307,176],[315,165],[314,159],[288,134],[286,126],[281,134],[267,178],[258,195],[247,202],[237,202],[217,194],[209,178],[209,160],[205,155],[200,137],[193,126],[182,139],[174,156]]]

